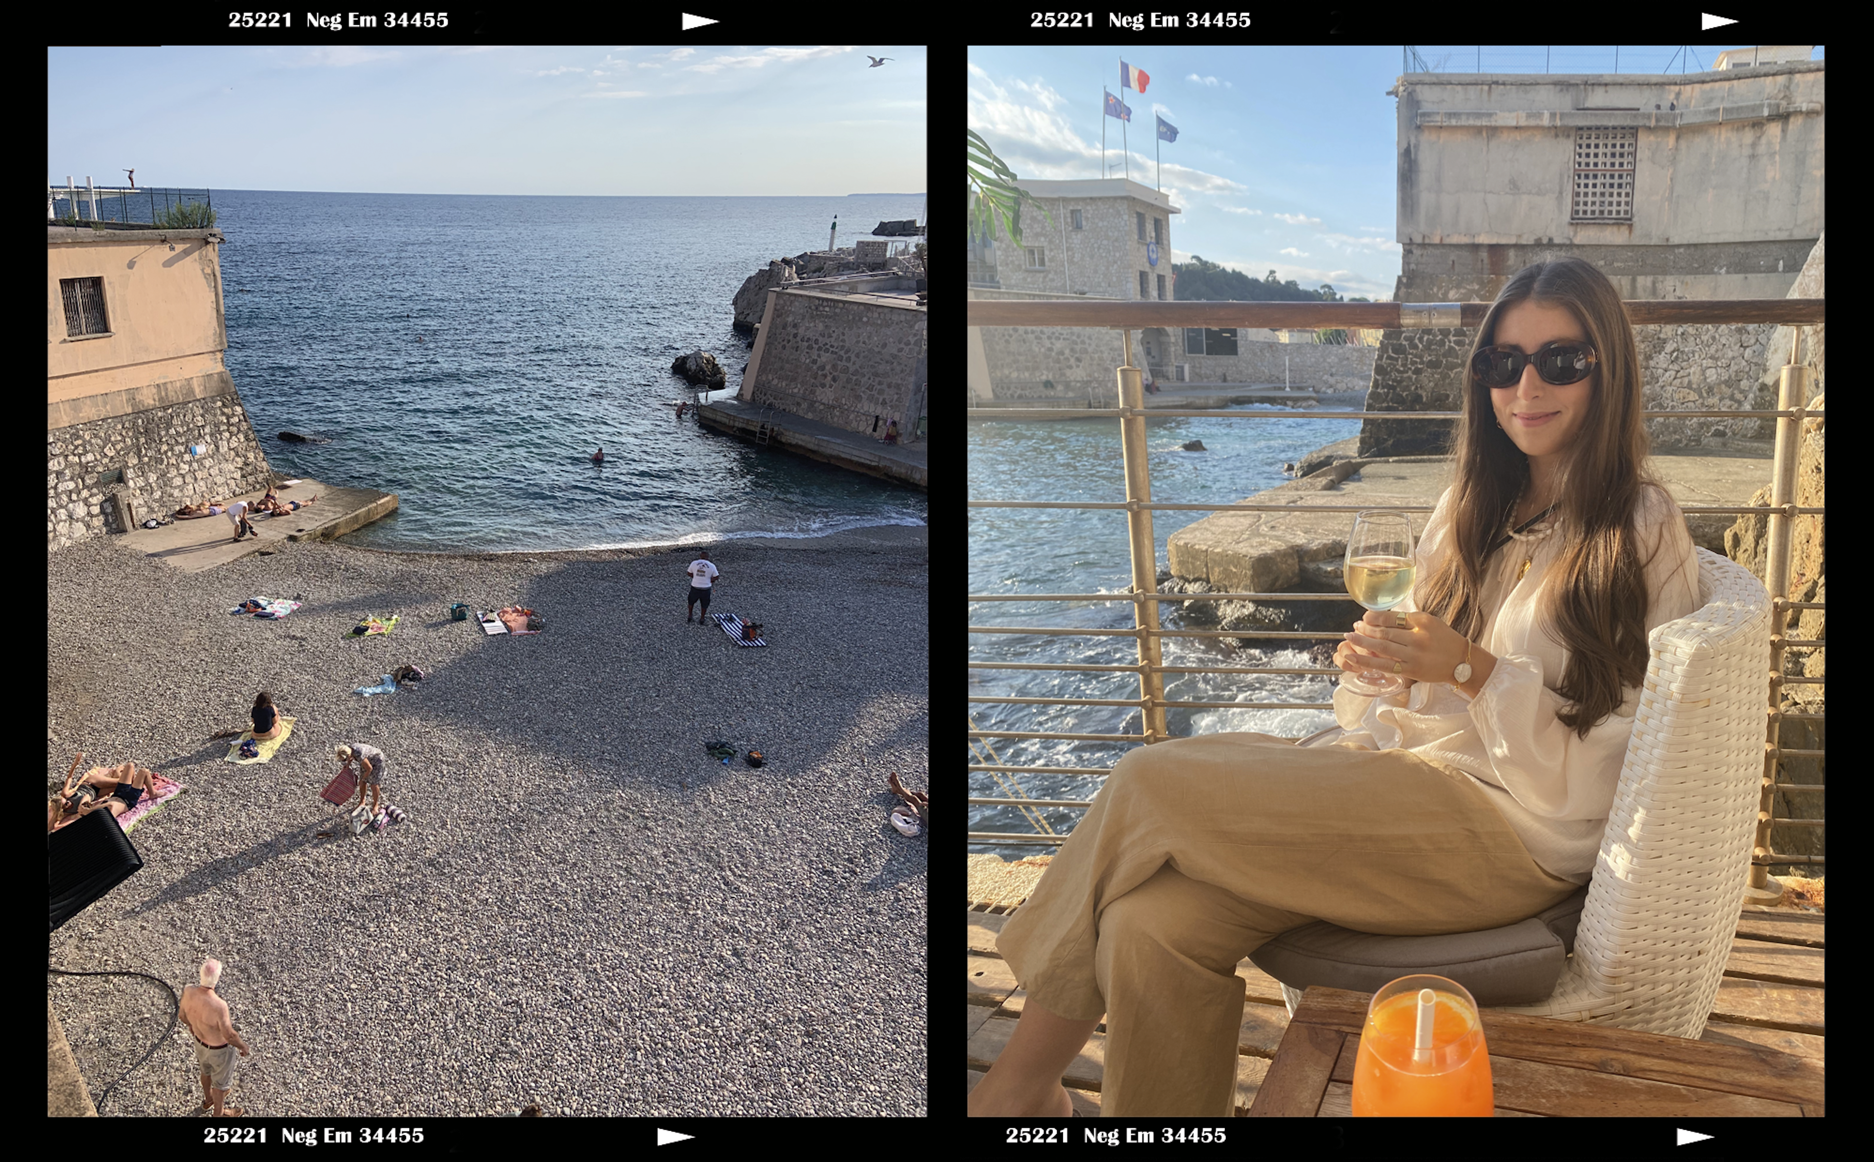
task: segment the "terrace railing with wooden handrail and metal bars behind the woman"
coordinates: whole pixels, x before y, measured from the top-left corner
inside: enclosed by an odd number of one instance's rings
[[[1703,409],[1703,410],[1645,410],[1645,418],[1692,418],[1692,416],[1758,416],[1777,418],[1775,467],[1771,502],[1758,506],[1735,504],[1690,504],[1681,506],[1687,515],[1694,514],[1767,514],[1769,515],[1769,553],[1765,562],[1765,583],[1771,594],[1771,637],[1763,645],[1769,648],[1767,688],[1767,740],[1763,757],[1762,798],[1758,804],[1758,834],[1750,858],[1750,886],[1765,890],[1769,885],[1767,868],[1773,864],[1825,864],[1823,857],[1803,857],[1775,853],[1769,849],[1769,832],[1775,825],[1822,827],[1822,819],[1784,819],[1775,813],[1777,791],[1822,791],[1822,783],[1784,783],[1778,782],[1778,763],[1782,757],[1822,757],[1822,750],[1790,750],[1778,742],[1782,722],[1823,722],[1823,714],[1807,714],[1782,708],[1782,688],[1793,684],[1822,684],[1823,678],[1784,675],[1784,650],[1803,647],[1822,647],[1823,641],[1792,639],[1786,635],[1788,613],[1792,609],[1823,609],[1823,602],[1790,600],[1790,534],[1795,517],[1822,515],[1823,508],[1795,504],[1797,437],[1801,422],[1810,412],[1803,405],[1810,399],[1812,369],[1799,364],[1803,326],[1823,320],[1823,300],[1814,298],[1777,298],[1777,300],[1662,300],[1627,302],[1627,317],[1634,324],[1722,324],[1722,322],[1775,322],[1797,328],[1797,341],[1790,350],[1790,364],[1782,367],[1777,410],[1747,409]],[[1132,587],[1128,592],[1104,594],[969,594],[971,602],[1128,602],[1134,609],[1132,630],[1061,630],[1048,626],[967,626],[967,633],[1033,633],[1033,635],[1074,635],[1074,637],[1134,637],[1138,641],[1138,663],[1031,663],[1031,662],[971,662],[974,669],[1027,669],[1027,671],[1076,671],[1076,673],[1138,673],[1139,697],[1136,699],[1094,699],[1094,697],[993,697],[969,695],[969,703],[982,705],[1063,705],[1063,707],[1130,707],[1141,714],[1141,735],[1083,735],[1048,731],[999,731],[976,729],[971,720],[971,750],[982,740],[988,761],[971,765],[973,772],[989,772],[1003,782],[1006,774],[1016,785],[1016,797],[971,797],[971,804],[1012,806],[1023,812],[1036,834],[969,832],[971,843],[1044,843],[1057,845],[1066,836],[1048,830],[1046,821],[1033,808],[1087,808],[1087,800],[1034,800],[1021,791],[1016,774],[1091,774],[1104,776],[1104,767],[1016,767],[1003,763],[989,738],[1019,740],[1072,740],[1072,742],[1126,742],[1151,746],[1171,738],[1166,729],[1168,708],[1233,708],[1233,710],[1332,710],[1332,703],[1205,703],[1205,701],[1168,701],[1164,697],[1164,675],[1190,673],[1233,673],[1233,675],[1310,675],[1332,677],[1340,669],[1316,667],[1220,667],[1220,665],[1164,665],[1160,641],[1164,637],[1256,637],[1286,641],[1338,639],[1340,632],[1274,632],[1274,630],[1162,630],[1158,626],[1158,605],[1162,602],[1344,602],[1346,594],[1334,592],[1205,592],[1205,594],[1160,594],[1158,592],[1158,555],[1153,538],[1153,510],[1171,512],[1295,512],[1291,504],[1182,504],[1154,502],[1151,491],[1151,465],[1145,448],[1145,418],[1168,416],[1205,416],[1205,418],[1254,418],[1254,420],[1370,420],[1383,414],[1387,420],[1456,420],[1460,412],[1284,412],[1284,410],[1207,410],[1207,409],[1145,409],[1143,377],[1132,365],[1132,330],[1147,326],[1362,326],[1362,328],[1456,328],[1482,322],[1490,304],[1246,304],[1246,302],[1070,302],[1070,300],[969,300],[965,322],[969,326],[1089,326],[1113,328],[1124,332],[1124,360],[1117,369],[1119,401],[1115,409],[969,409],[969,418],[982,420],[1053,420],[1085,416],[1117,416],[1121,420],[1121,450],[1126,470],[1126,499],[1123,502],[1061,502],[1061,500],[967,500],[969,508],[1061,508],[1061,510],[1113,510],[1126,514],[1130,538]],[[1308,512],[1432,512],[1430,504],[1321,504],[1308,506]],[[976,755],[982,759],[982,755]],[[1008,783],[1003,783],[1004,787]],[[1042,834],[1046,832],[1046,834]]]

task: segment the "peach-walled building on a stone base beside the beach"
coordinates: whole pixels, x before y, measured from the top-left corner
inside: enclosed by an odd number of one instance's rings
[[[47,542],[264,487],[216,229],[47,227]]]

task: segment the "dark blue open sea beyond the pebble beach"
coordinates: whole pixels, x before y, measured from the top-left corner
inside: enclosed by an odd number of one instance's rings
[[[727,371],[718,397],[740,388],[742,279],[825,249],[836,214],[851,246],[879,219],[918,217],[922,195],[212,197],[227,367],[268,463],[397,493],[350,544],[590,549],[926,519],[918,489],[669,407],[690,397],[671,360],[697,349]]]

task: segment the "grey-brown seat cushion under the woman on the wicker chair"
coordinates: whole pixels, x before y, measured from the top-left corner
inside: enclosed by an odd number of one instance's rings
[[[1250,952],[1250,961],[1289,988],[1372,993],[1400,976],[1432,973],[1456,980],[1482,1006],[1535,1005],[1555,991],[1585,900],[1584,886],[1527,920],[1450,935],[1372,935],[1316,920]]]

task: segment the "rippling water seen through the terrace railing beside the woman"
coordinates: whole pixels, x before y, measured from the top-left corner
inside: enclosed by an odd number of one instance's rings
[[[1314,420],[1306,412],[1269,405],[1229,409],[1254,416],[1147,420],[1153,500],[1175,504],[1235,504],[1286,480],[1282,465],[1359,435],[1359,420]],[[1357,410],[1347,409],[1347,410]],[[1274,414],[1289,418],[1274,418]],[[1201,440],[1205,452],[1181,444]],[[969,495],[973,500],[1089,500],[1126,499],[1119,420],[971,420]],[[1158,568],[1166,568],[1166,538],[1207,512],[1154,512]],[[1064,508],[971,508],[969,592],[1123,592],[1132,583],[1126,514]],[[1179,605],[1160,605],[1166,628],[1177,628]],[[1132,602],[971,602],[973,626],[1132,628]],[[1166,665],[1308,665],[1297,648],[1229,652],[1218,639],[1166,637]],[[1269,643],[1276,647],[1278,643]],[[973,633],[971,662],[1119,663],[1136,665],[1138,643],[1128,637],[1057,637],[1044,633]],[[1139,697],[1138,673],[976,669],[971,697]],[[1166,697],[1182,701],[1332,699],[1331,680],[1301,675],[1166,675]],[[1126,707],[1025,707],[973,703],[971,729],[1016,729],[1057,735],[1138,735],[1139,712]],[[1173,735],[1261,731],[1302,737],[1332,725],[1327,710],[1169,710]],[[1098,767],[1109,768],[1132,744],[989,738],[993,759],[974,742],[971,765]],[[973,770],[971,797],[1016,798],[1014,778],[1031,798],[1093,798],[1100,776],[993,774]],[[1001,782],[999,782],[1001,780]],[[1081,808],[1031,808],[1057,834],[1072,832]],[[1027,834],[1036,828],[1016,808],[971,806],[973,832]],[[1003,858],[1044,855],[1053,845],[984,845]]]

